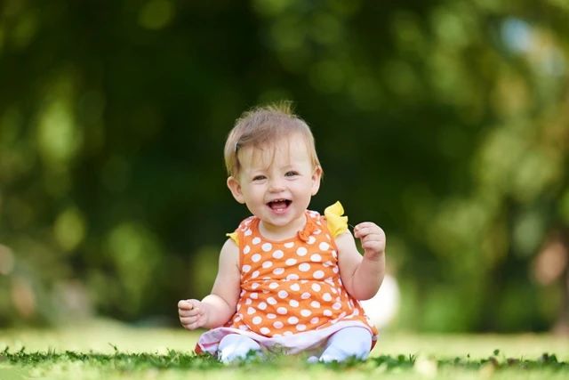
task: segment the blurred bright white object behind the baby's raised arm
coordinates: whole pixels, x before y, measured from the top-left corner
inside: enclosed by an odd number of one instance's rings
[[[399,286],[397,279],[386,274],[380,290],[372,298],[360,301],[367,316],[378,327],[386,327],[399,310]]]

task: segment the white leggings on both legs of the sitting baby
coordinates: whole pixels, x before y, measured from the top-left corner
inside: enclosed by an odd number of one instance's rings
[[[309,361],[344,361],[350,358],[365,360],[372,348],[372,334],[364,327],[345,327],[328,338],[320,358]],[[224,363],[244,360],[249,352],[260,352],[260,344],[248,336],[229,334],[220,341],[218,356]]]

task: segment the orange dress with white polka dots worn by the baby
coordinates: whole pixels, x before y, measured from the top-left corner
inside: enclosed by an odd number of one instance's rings
[[[268,350],[296,353],[322,346],[344,327],[376,327],[342,286],[337,248],[326,218],[306,211],[303,230],[292,239],[261,236],[251,216],[231,234],[239,247],[241,294],[233,318],[199,339],[196,352],[217,353],[228,334],[250,336]],[[370,350],[373,347],[370,347]]]

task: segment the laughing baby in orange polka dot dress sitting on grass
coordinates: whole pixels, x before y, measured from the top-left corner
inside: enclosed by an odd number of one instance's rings
[[[386,237],[373,222],[352,235],[339,202],[324,216],[308,209],[323,174],[309,126],[289,103],[245,112],[225,163],[231,194],[252,216],[228,234],[211,294],[178,303],[183,327],[209,328],[196,352],[223,362],[251,352],[367,358],[378,331],[358,300],[381,286]]]

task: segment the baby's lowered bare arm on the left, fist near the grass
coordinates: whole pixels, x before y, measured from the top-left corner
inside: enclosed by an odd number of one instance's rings
[[[220,252],[220,265],[212,293],[202,301],[190,299],[178,303],[180,323],[188,330],[223,326],[236,312],[240,292],[239,248],[228,239]]]

